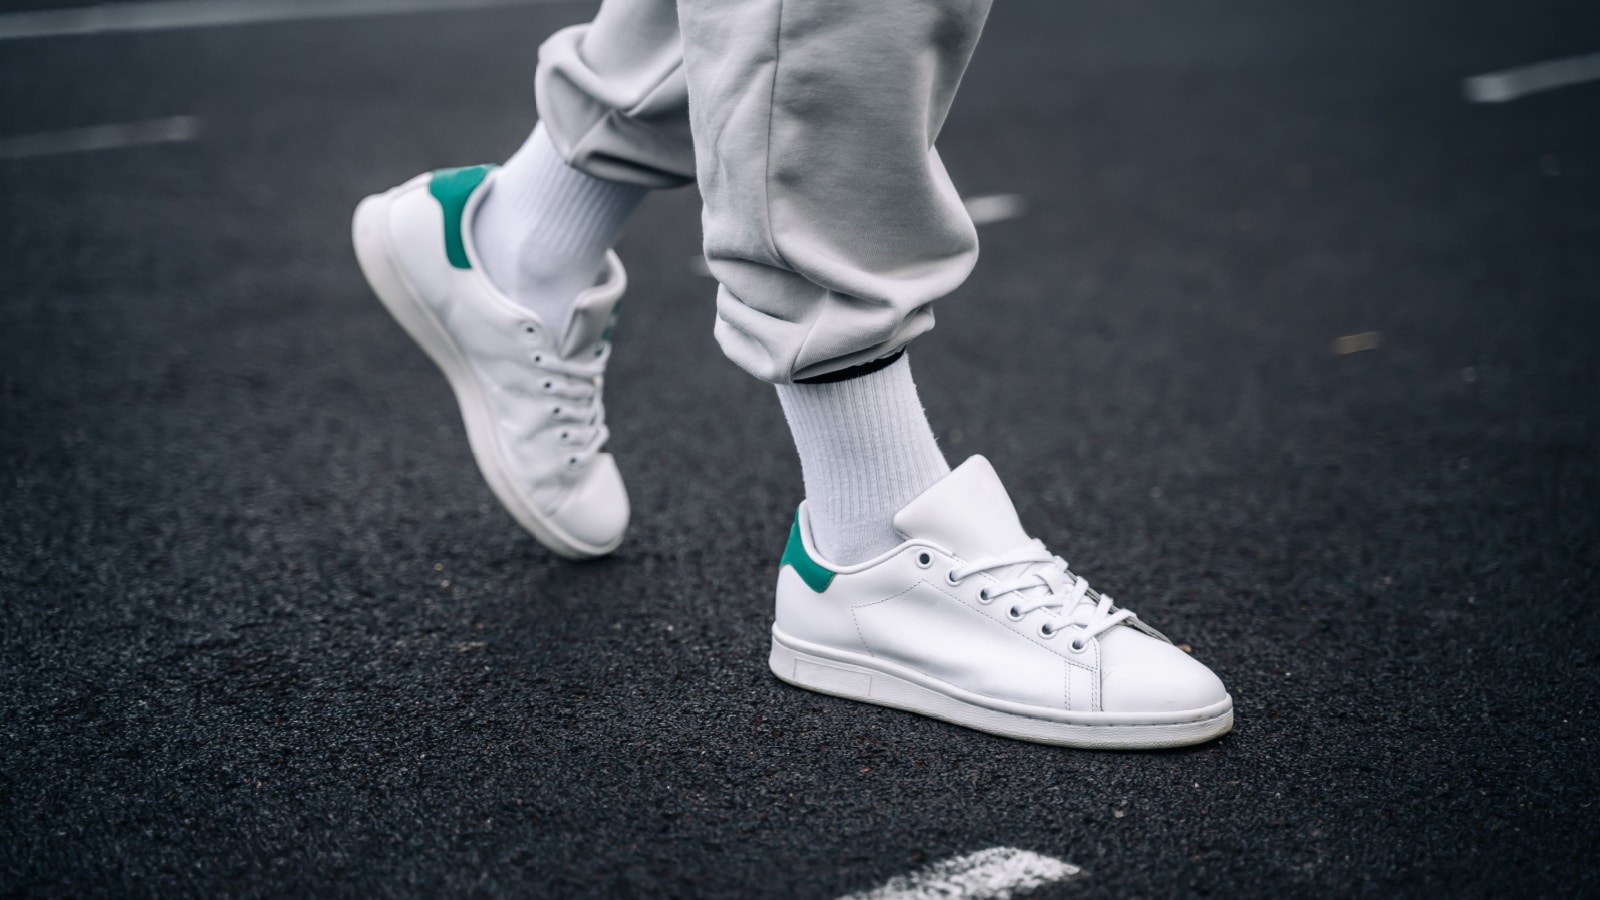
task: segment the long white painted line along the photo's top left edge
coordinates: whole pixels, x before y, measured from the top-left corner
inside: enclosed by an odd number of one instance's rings
[[[0,14],[0,40],[544,6],[576,0],[152,0]]]

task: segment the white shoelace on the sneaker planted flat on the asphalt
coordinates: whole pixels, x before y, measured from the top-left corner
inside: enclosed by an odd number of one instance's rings
[[[1021,569],[1021,573],[986,586],[979,593],[979,599],[994,602],[1013,594],[1013,605],[1006,612],[1014,620],[1035,610],[1050,612],[1051,621],[1040,626],[1040,634],[1045,637],[1066,628],[1083,629],[1072,641],[1074,650],[1082,650],[1083,642],[1090,637],[1133,618],[1131,610],[1117,609],[1109,596],[1091,589],[1088,578],[1072,573],[1067,569],[1067,560],[1050,552],[1045,543],[1037,538],[1030,548],[957,565],[950,570],[950,583],[960,583],[979,572],[1006,569]]]

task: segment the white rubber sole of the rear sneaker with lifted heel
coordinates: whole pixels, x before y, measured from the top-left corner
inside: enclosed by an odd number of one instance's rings
[[[614,551],[622,543],[622,535],[608,544],[581,541],[534,509],[514,487],[512,468],[501,455],[499,442],[494,437],[494,416],[482,384],[472,373],[472,365],[450,331],[434,315],[434,311],[418,296],[405,271],[395,263],[387,227],[389,202],[387,195],[374,194],[355,207],[355,218],[350,223],[355,259],[378,299],[450,381],[450,389],[456,394],[456,405],[461,407],[461,420],[467,426],[472,458],[477,460],[483,480],[499,498],[501,506],[552,552],[566,559],[594,559]]]

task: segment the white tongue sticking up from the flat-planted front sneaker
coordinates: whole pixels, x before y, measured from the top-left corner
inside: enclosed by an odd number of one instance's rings
[[[933,541],[971,562],[1024,549],[1027,532],[982,456],[971,456],[917,500],[894,514],[894,528],[907,538]]]

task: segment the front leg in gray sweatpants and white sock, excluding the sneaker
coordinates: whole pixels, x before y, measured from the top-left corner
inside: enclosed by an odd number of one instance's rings
[[[987,0],[680,0],[720,282],[717,340],[779,384],[816,535],[837,560],[898,543],[890,519],[949,466],[894,356],[978,259],[934,151]]]

